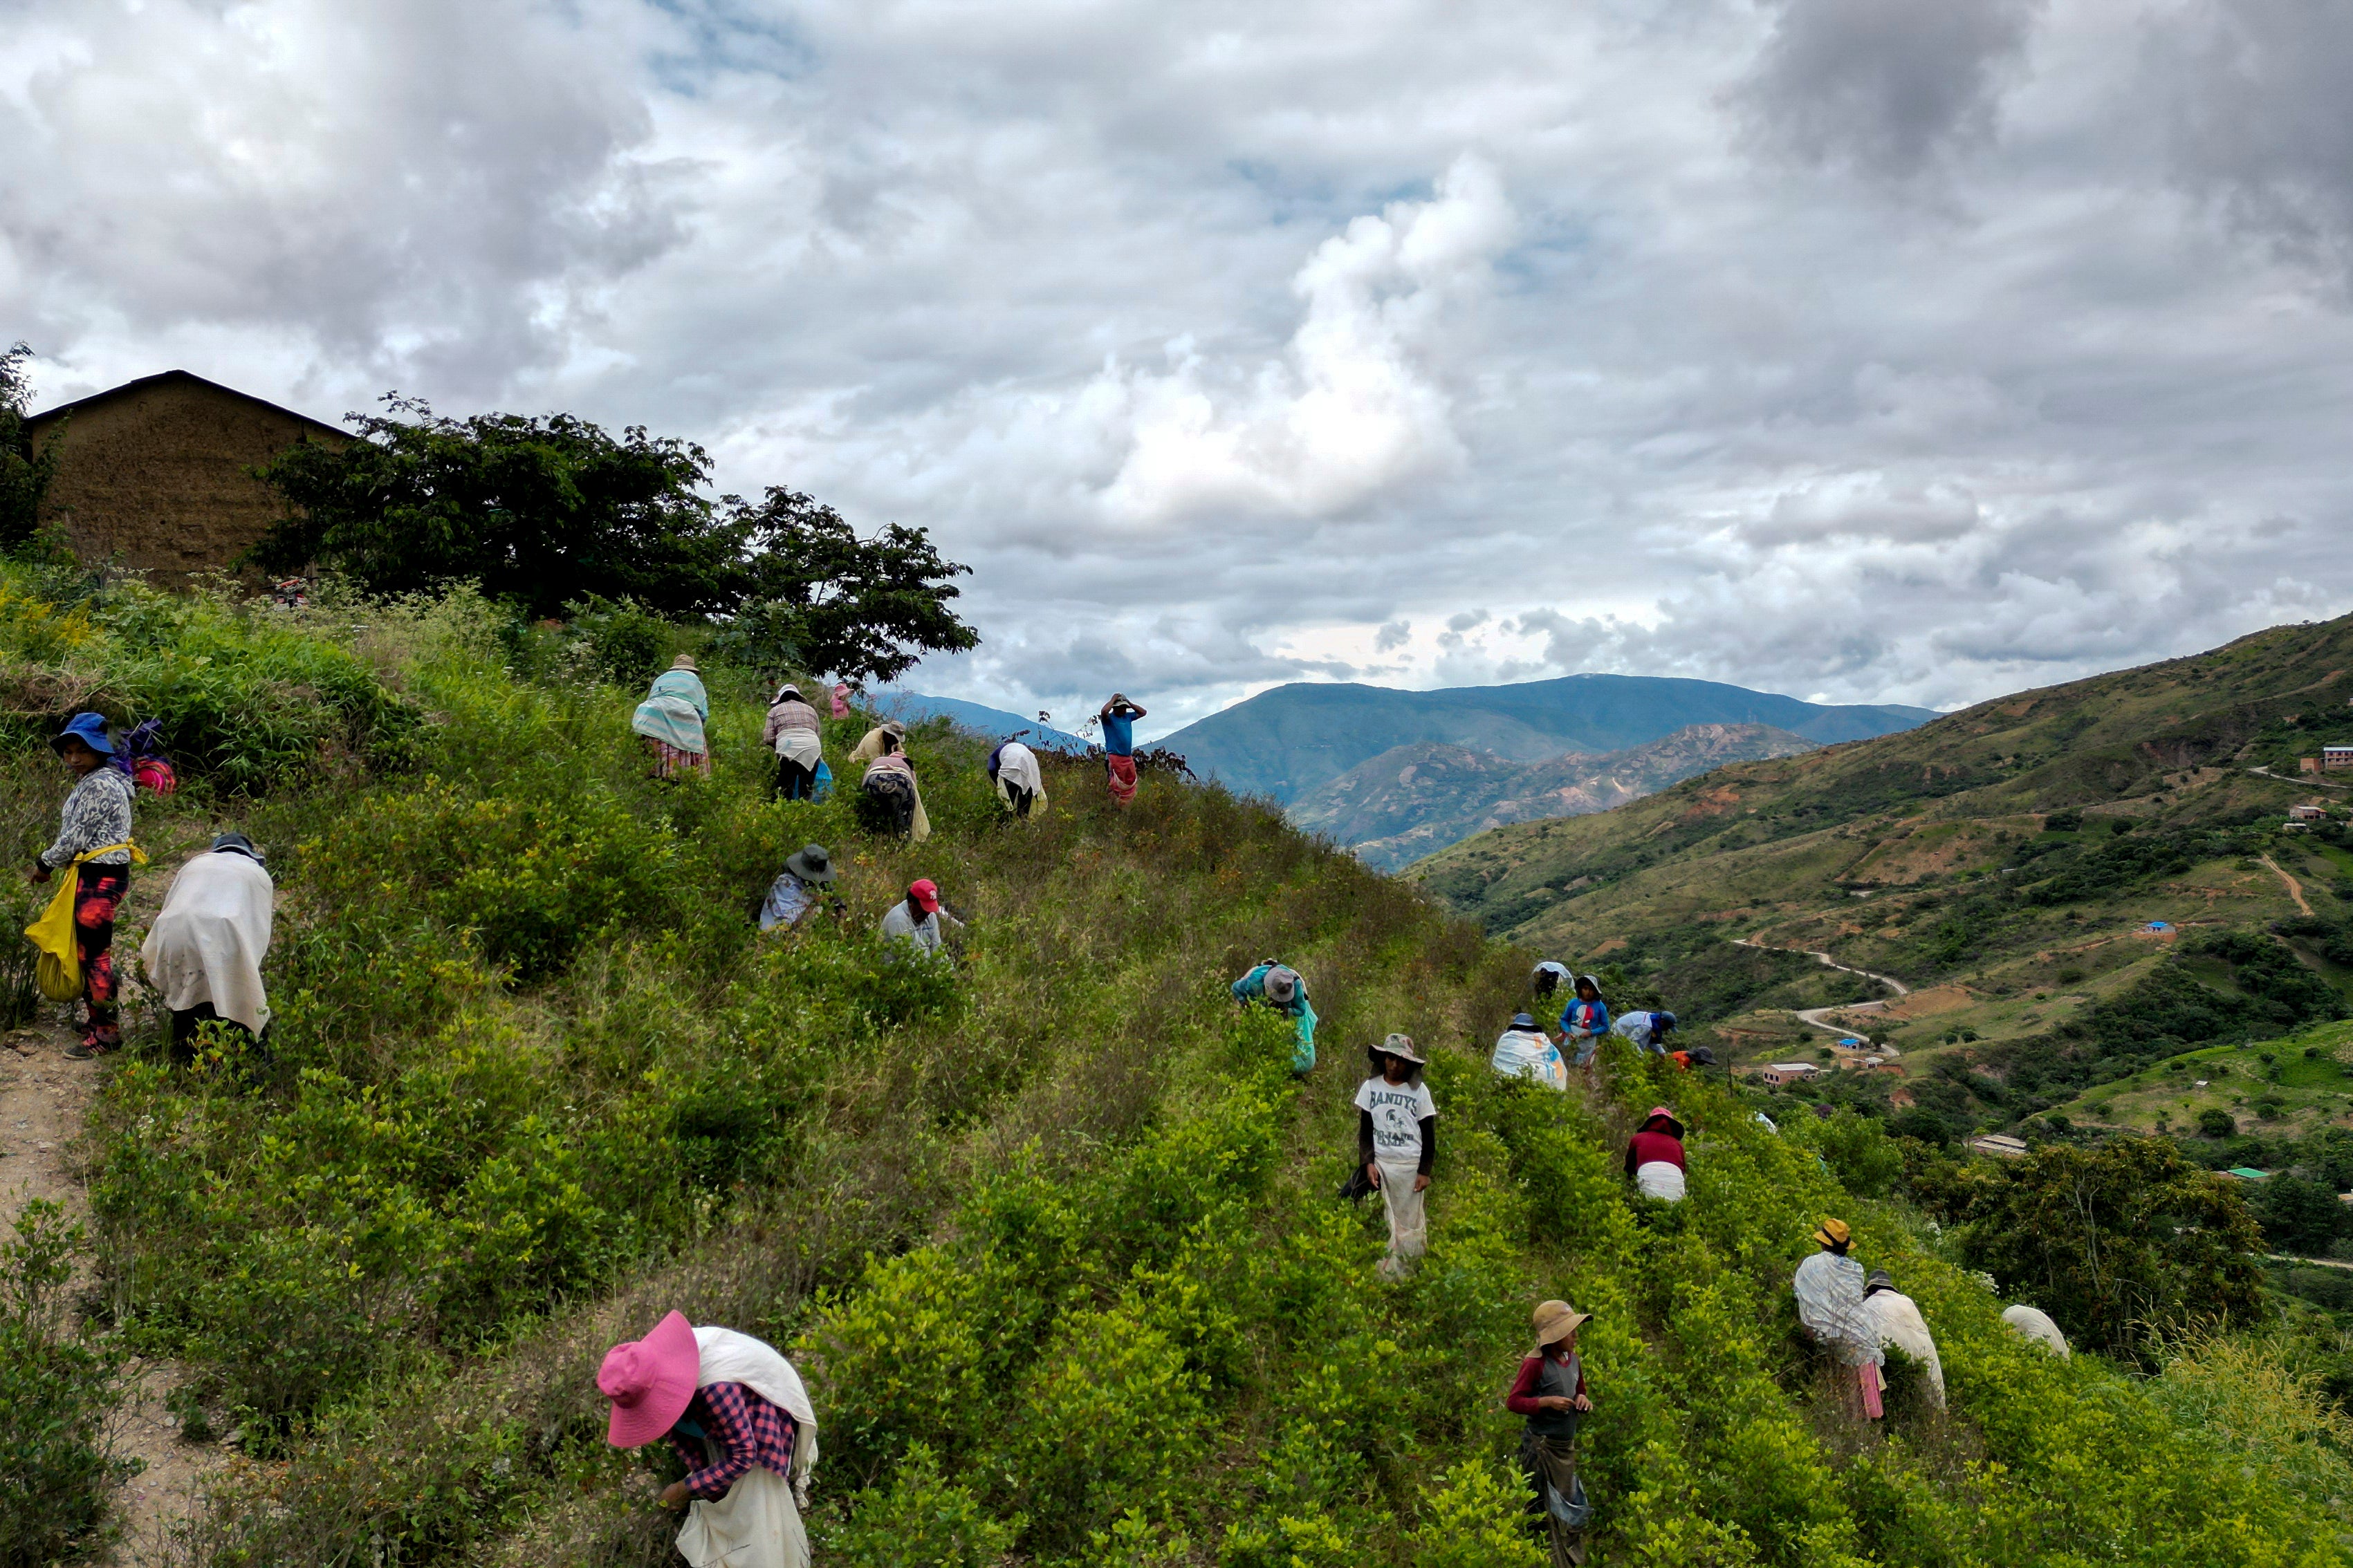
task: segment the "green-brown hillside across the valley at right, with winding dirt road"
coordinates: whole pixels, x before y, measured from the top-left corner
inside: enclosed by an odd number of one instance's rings
[[[2005,1126],[2186,1046],[2339,1016],[2353,790],[2297,757],[2353,741],[2348,698],[2353,621],[2275,628],[1499,827],[1412,877],[1489,931],[1617,964],[1734,1060],[1828,1044],[1777,1037],[1774,1009],[1812,1004],[1793,985],[1880,997],[1833,1023],[1904,1051],[1955,1131]],[[2285,832],[2299,802],[2329,820]]]

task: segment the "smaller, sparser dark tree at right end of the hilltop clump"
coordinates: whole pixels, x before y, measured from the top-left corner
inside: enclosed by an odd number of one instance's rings
[[[889,682],[922,651],[979,644],[948,609],[948,578],[972,567],[944,559],[925,529],[894,522],[859,538],[831,505],[774,484],[727,503],[727,527],[751,548],[751,588],[720,637],[736,658]]]

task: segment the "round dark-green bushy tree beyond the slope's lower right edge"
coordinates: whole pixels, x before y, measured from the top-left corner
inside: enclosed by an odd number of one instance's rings
[[[1965,1258],[2005,1295],[2094,1349],[2139,1352],[2153,1333],[2261,1314],[2254,1215],[2172,1140],[2047,1145],[1915,1197],[1958,1222]]]

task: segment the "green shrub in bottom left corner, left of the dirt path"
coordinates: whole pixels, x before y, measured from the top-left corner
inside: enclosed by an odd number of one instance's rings
[[[47,1568],[92,1544],[122,1467],[111,1420],[122,1354],[66,1319],[80,1227],[31,1199],[0,1244],[0,1568]]]

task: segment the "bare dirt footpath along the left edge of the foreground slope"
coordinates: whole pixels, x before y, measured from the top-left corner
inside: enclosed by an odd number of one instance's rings
[[[186,856],[148,865],[132,879],[115,922],[125,1011],[139,999],[134,959],[146,924],[162,907],[165,889],[184,860]],[[80,1032],[64,1018],[64,1009],[42,1004],[35,1023],[0,1037],[0,1222],[14,1222],[33,1199],[49,1199],[87,1234],[89,1187],[80,1140],[108,1065],[66,1058]],[[75,1288],[87,1284],[85,1260]],[[195,1512],[205,1476],[231,1458],[219,1446],[181,1441],[179,1420],[165,1408],[181,1380],[174,1363],[141,1359],[125,1375],[127,1392],[113,1432],[115,1458],[136,1460],[141,1469],[115,1493],[118,1537],[96,1559],[104,1568],[162,1561],[162,1544]]]

